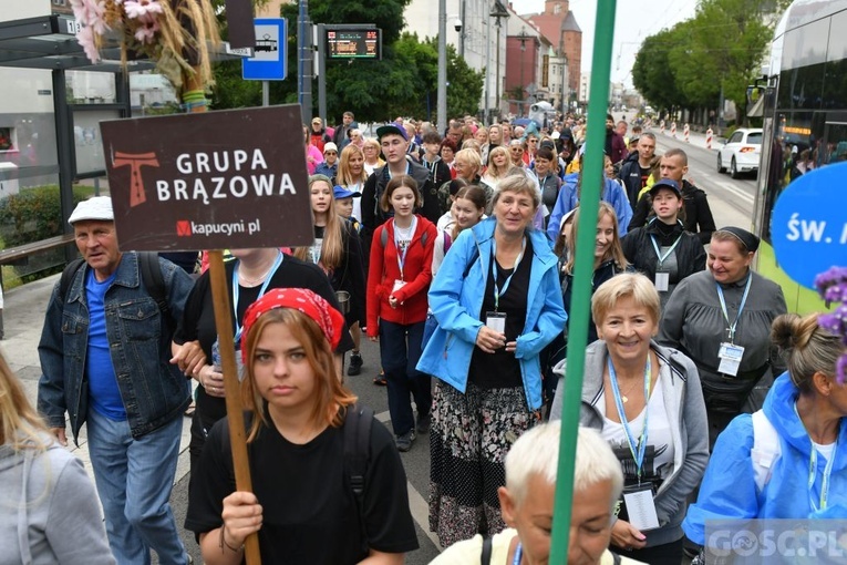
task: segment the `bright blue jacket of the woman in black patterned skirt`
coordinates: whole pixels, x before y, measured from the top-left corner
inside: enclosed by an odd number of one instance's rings
[[[463,230],[444,256],[430,286],[430,308],[438,327],[424,348],[417,370],[432,374],[464,393],[476,335],[483,322],[485,282],[492,270],[492,242],[497,225],[488,218]],[[524,331],[515,357],[520,361],[524,392],[530,410],[541,407],[541,370],[538,353],[561,332],[568,315],[561,304],[558,260],[544,234],[527,232],[533,243],[533,266]],[[467,269],[467,265],[471,265]],[[467,270],[466,270],[467,269]]]

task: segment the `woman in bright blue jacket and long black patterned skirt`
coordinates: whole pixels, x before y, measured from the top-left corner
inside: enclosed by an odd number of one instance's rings
[[[539,420],[538,353],[567,320],[557,259],[533,229],[535,183],[509,175],[493,217],[465,229],[430,288],[438,328],[417,369],[436,377],[430,433],[430,528],[443,546],[505,527],[504,456]]]

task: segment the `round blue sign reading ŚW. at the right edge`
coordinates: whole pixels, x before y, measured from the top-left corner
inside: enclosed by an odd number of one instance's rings
[[[847,265],[847,163],[800,176],[774,206],[771,238],[776,261],[807,288],[829,267]]]

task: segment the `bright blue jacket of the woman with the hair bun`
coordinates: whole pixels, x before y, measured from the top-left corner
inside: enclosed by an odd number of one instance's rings
[[[696,504],[689,507],[682,523],[685,535],[703,545],[707,520],[733,518],[824,518],[847,517],[847,418],[840,422],[835,462],[829,479],[829,502],[825,511],[815,512],[810,501],[820,500],[820,485],[826,460],[817,458],[817,474],[812,492],[808,490],[808,465],[812,440],[794,403],[799,390],[788,373],[775,382],[762,408],[779,436],[779,458],[772,474],[758,492],[751,450],[753,420],[751,414],[735,418],[717,438],[706,468]]]

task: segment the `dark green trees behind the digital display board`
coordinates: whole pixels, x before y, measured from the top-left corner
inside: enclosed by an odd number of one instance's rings
[[[427,117],[435,113],[438,52],[435,39],[419,40],[402,34],[403,11],[411,0],[311,0],[309,18],[320,23],[373,23],[382,29],[382,61],[330,61],[327,63],[327,113],[339,123],[347,110],[359,122],[391,120],[396,115]],[[288,19],[288,79],[270,83],[270,103],[297,102],[298,4],[283,4]],[[219,64],[215,70],[216,109],[261,104],[261,84],[241,80],[240,62]],[[483,73],[467,66],[453,48],[447,50],[447,110],[450,115],[475,114],[483,92]],[[317,115],[318,81],[312,83]]]

